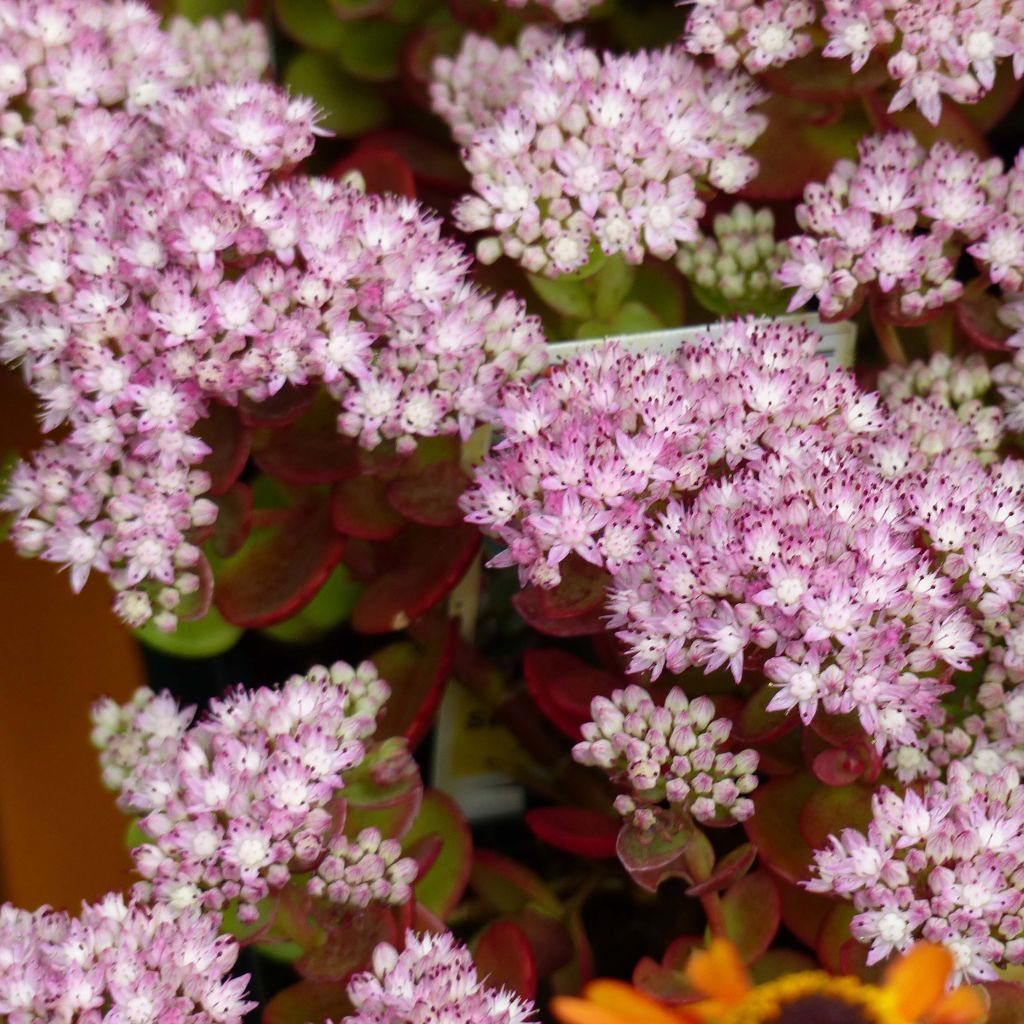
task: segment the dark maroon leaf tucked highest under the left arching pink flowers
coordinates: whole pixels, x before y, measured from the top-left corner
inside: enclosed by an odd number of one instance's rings
[[[334,483],[359,473],[359,449],[338,433],[338,403],[322,391],[294,423],[254,452],[256,465],[288,483]]]

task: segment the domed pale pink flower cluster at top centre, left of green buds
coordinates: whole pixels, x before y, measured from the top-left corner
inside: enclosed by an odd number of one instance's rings
[[[518,88],[500,113],[481,103],[478,84],[463,98],[462,80],[447,72],[437,109],[465,133],[467,115],[484,108],[463,155],[475,195],[455,210],[460,227],[488,232],[477,247],[484,262],[504,253],[554,278],[599,253],[668,259],[696,239],[698,187],[735,191],[757,172],[745,151],[764,130],[752,112],[761,93],[745,76],[701,71],[678,47],[602,56],[555,40],[503,79],[500,88]]]

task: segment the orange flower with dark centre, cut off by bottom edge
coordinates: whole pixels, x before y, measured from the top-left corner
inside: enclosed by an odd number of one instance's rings
[[[735,947],[721,940],[695,952],[686,977],[705,998],[669,1007],[621,981],[595,981],[584,998],[552,1001],[563,1024],[979,1024],[981,995],[946,991],[952,956],[921,944],[897,961],[883,985],[823,971],[754,985]]]

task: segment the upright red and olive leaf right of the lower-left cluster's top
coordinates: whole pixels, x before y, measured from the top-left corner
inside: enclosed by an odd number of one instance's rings
[[[427,734],[451,675],[457,637],[457,624],[444,622],[426,647],[397,643],[374,654],[377,671],[391,687],[377,725],[379,737],[404,736],[415,748]]]

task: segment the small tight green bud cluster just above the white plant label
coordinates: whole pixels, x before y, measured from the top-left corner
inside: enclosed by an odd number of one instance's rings
[[[719,313],[781,312],[785,299],[775,275],[786,249],[775,240],[771,210],[737,203],[717,214],[713,227],[714,237],[701,233],[676,256],[700,304]]]

